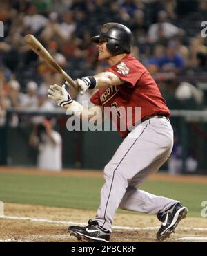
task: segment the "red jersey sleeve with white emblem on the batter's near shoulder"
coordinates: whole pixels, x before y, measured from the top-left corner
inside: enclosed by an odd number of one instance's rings
[[[121,60],[118,64],[108,68],[108,71],[117,75],[121,80],[135,86],[145,69],[141,64],[139,65],[139,62]]]

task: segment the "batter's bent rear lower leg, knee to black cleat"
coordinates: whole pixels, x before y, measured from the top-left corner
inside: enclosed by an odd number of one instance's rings
[[[186,217],[188,209],[179,201],[163,196],[155,196],[137,188],[128,187],[119,208],[137,212],[157,214],[162,222],[157,232],[157,239],[164,240],[175,232],[181,219]]]

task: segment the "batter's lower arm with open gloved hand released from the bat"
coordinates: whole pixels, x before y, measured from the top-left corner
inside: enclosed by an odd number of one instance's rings
[[[50,85],[50,89],[48,90],[48,98],[55,100],[59,107],[63,107],[67,110],[68,114],[75,115],[88,122],[90,122],[91,118],[95,118],[97,124],[103,122],[103,107],[83,107],[83,105],[79,104],[79,102],[72,100],[70,94],[68,91],[66,91],[65,84],[63,84],[63,86],[59,86],[57,84]]]

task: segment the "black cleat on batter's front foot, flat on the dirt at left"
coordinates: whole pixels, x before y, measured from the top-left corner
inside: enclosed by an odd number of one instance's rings
[[[98,221],[88,221],[88,226],[70,226],[68,233],[74,235],[78,240],[86,239],[88,241],[108,242],[110,240],[110,231],[99,226]]]

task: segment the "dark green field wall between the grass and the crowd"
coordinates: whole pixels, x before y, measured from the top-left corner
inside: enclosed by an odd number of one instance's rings
[[[199,164],[199,173],[206,174],[206,122],[185,123],[172,118],[172,124],[186,147],[186,154],[193,152]],[[181,124],[185,125],[185,129],[181,129]],[[68,131],[65,123],[56,129],[63,140],[63,167],[102,170],[122,141],[117,131]],[[37,150],[28,145],[31,131],[31,125],[7,129],[0,127],[1,165],[35,166]]]

